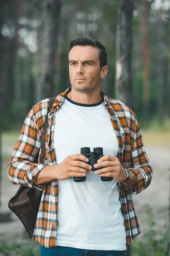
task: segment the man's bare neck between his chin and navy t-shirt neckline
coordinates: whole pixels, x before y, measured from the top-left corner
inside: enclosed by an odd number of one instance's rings
[[[77,92],[71,87],[71,92],[67,94],[67,97],[74,102],[81,104],[95,104],[102,100],[100,90],[91,92],[90,94]]]

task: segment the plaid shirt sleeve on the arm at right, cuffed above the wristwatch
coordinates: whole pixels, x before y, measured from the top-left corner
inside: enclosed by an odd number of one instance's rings
[[[150,185],[153,170],[144,150],[141,128],[137,119],[131,155],[131,164],[130,168],[127,169],[131,170],[136,176],[136,187],[134,190],[126,188],[126,186],[123,184],[124,188],[130,191],[130,193],[139,194],[142,192],[142,190],[146,189]]]

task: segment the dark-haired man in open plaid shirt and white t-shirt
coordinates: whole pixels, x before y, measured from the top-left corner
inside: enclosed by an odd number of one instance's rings
[[[71,87],[56,97],[48,114],[45,165],[33,160],[49,99],[28,113],[8,176],[14,184],[44,188],[32,237],[41,243],[42,256],[125,256],[126,245],[140,233],[130,193],[142,192],[152,177],[140,125],[133,111],[100,90],[108,72],[102,44],[73,39],[68,67]],[[94,165],[100,169],[91,172],[82,147],[103,148]]]

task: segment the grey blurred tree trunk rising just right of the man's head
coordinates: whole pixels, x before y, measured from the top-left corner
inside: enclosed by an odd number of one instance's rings
[[[132,105],[132,18],[134,0],[119,0],[116,28],[116,99]]]

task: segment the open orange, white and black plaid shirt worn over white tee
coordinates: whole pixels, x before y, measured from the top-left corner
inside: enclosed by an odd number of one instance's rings
[[[65,96],[70,91],[71,87],[65,90],[64,93],[60,93],[56,97],[50,113],[48,113],[49,127],[45,137],[45,165],[57,164],[54,152],[54,113],[59,111]],[[106,96],[102,91],[101,96],[104,99],[105,108],[108,110],[118,140],[119,161],[124,168],[131,170],[136,175],[136,188],[133,191],[127,189],[123,183],[119,183],[126,243],[132,244],[132,239],[141,231],[130,193],[138,194],[149,186],[152,178],[152,168],[144,150],[140,125],[133,111],[122,102]],[[49,102],[49,99],[44,99],[37,103],[26,117],[20,137],[8,163],[8,177],[14,184],[34,187],[37,176],[45,166],[40,163],[40,136]],[[39,150],[38,163],[33,163]],[[57,180],[36,187],[43,189],[43,193],[32,239],[40,242],[45,247],[56,246]]]

